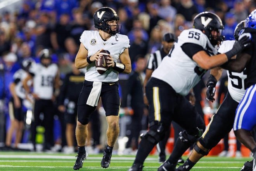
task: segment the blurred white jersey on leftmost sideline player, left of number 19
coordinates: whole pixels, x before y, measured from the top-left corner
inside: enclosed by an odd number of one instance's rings
[[[22,81],[28,76],[28,73],[26,71],[24,71],[24,69],[19,69],[17,70],[14,75],[13,75],[13,79],[19,79],[20,81],[18,83],[16,83],[15,85],[15,92],[17,94],[17,96],[19,98],[24,99],[26,97],[26,91],[22,85]]]

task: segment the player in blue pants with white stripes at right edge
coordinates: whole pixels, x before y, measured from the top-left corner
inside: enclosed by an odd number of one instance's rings
[[[251,134],[256,125],[256,10],[246,18],[245,29],[240,31],[240,36],[249,35],[251,45],[243,52],[247,60],[246,93],[240,101],[235,116],[234,132],[237,139],[243,143],[253,154],[253,171],[256,171],[256,142]]]

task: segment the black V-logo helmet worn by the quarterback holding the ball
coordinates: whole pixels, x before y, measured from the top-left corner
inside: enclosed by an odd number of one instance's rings
[[[116,28],[111,29],[111,26],[108,24],[108,21],[116,20]],[[94,26],[97,29],[103,30],[111,35],[115,35],[119,33],[119,17],[115,10],[109,7],[102,7],[98,9],[95,14],[93,15]],[[121,29],[121,26],[120,26]]]

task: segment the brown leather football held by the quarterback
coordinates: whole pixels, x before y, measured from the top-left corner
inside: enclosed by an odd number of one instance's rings
[[[102,54],[103,56],[98,61],[95,60],[95,67],[99,74],[104,74],[106,73],[107,69],[109,69],[109,67],[107,66],[107,61],[109,61],[107,59],[108,57],[107,54],[110,54],[110,53],[107,50],[102,50],[100,54]]]

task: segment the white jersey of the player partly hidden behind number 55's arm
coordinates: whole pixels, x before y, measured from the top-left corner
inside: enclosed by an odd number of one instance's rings
[[[223,41],[218,49],[218,52],[223,54],[232,49],[235,40]],[[246,69],[241,73],[230,72],[227,70],[228,75],[228,92],[230,96],[236,101],[240,102],[246,92],[244,87],[244,80],[247,78]]]

